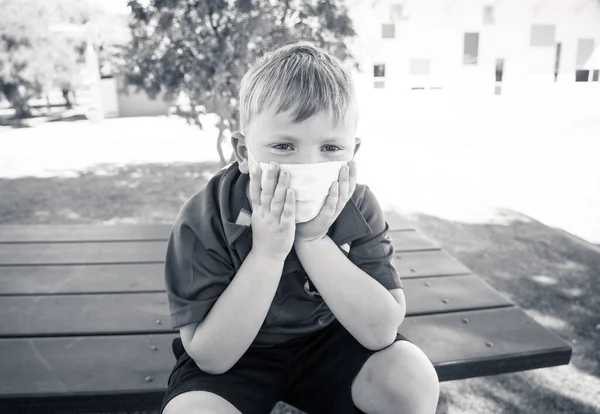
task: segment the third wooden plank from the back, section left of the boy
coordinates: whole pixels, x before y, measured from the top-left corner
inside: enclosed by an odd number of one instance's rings
[[[0,266],[0,297],[53,293],[164,291],[164,263]],[[0,298],[0,302],[3,299]]]

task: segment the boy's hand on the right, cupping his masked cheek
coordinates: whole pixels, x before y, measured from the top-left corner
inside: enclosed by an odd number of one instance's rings
[[[338,218],[355,189],[356,162],[351,161],[340,168],[338,181],[329,188],[329,195],[317,217],[306,223],[296,224],[295,242],[308,242],[325,237],[329,227]]]

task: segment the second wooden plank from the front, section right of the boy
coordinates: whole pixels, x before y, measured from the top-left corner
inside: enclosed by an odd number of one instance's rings
[[[408,316],[513,306],[479,276],[445,276],[403,281]]]

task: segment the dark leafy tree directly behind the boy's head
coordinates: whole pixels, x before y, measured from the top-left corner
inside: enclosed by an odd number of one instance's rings
[[[151,0],[143,6],[129,1],[133,20],[127,80],[152,97],[163,93],[172,99],[184,92],[191,102],[189,117],[200,129],[198,108],[217,114],[217,151],[226,164],[224,132],[238,127],[241,79],[266,51],[307,40],[342,61],[354,61],[346,41],[356,33],[341,3]]]

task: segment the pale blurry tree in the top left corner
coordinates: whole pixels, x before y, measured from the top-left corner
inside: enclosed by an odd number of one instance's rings
[[[0,10],[0,93],[16,116],[31,116],[28,100],[50,88],[68,98],[82,82],[85,39],[51,26],[106,20],[106,14],[88,0],[0,0]]]

